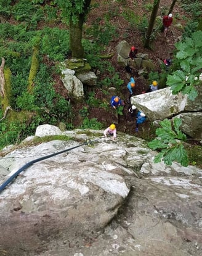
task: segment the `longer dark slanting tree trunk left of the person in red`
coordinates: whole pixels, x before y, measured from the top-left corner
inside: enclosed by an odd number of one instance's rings
[[[148,24],[147,33],[145,35],[146,36],[145,44],[144,44],[145,48],[150,48],[151,34],[152,34],[152,31],[153,31],[153,26],[155,24],[156,14],[158,12],[158,7],[160,6],[160,1],[161,0],[154,0],[153,1],[153,9],[152,9],[152,12],[151,12],[150,22]]]

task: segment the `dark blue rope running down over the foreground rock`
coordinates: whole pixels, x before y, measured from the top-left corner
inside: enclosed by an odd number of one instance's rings
[[[102,138],[99,138],[99,139],[102,139]],[[0,186],[0,193],[4,190],[4,188],[6,188],[6,186],[12,181],[14,180],[15,177],[18,176],[18,174],[20,174],[22,171],[24,171],[26,168],[30,167],[30,165],[33,165],[33,163],[37,163],[39,161],[42,161],[44,159],[48,159],[50,157],[54,157],[55,155],[59,155],[59,154],[62,154],[64,152],[68,152],[68,151],[71,151],[72,149],[76,149],[77,147],[81,147],[81,146],[84,146],[84,145],[87,145],[87,146],[92,146],[93,142],[95,141],[99,141],[99,139],[94,139],[94,141],[91,141],[91,139],[87,139],[83,144],[80,144],[78,146],[75,146],[75,147],[70,147],[70,149],[64,149],[63,151],[59,151],[57,153],[54,153],[54,154],[51,154],[51,155],[46,155],[45,157],[40,157],[38,159],[35,159],[35,160],[32,160],[28,163],[26,163],[25,165],[23,165],[23,167],[21,167],[19,170],[17,170],[12,176],[10,176],[6,181],[4,181],[4,183]]]

